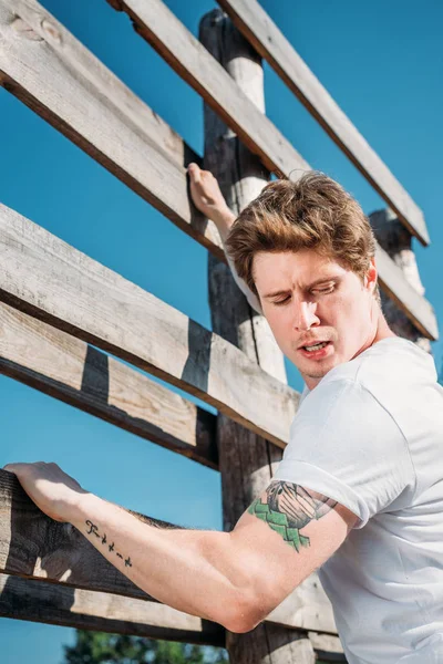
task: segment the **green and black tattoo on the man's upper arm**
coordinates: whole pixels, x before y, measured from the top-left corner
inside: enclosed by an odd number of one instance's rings
[[[320,519],[337,505],[316,491],[308,491],[290,481],[272,481],[266,489],[266,502],[260,498],[254,500],[248,512],[265,521],[276,530],[284,540],[300,551],[309,547],[309,537],[300,533],[313,519]]]

